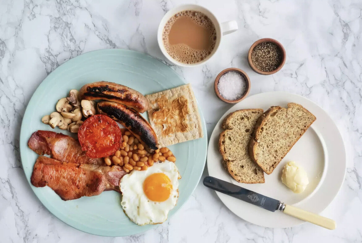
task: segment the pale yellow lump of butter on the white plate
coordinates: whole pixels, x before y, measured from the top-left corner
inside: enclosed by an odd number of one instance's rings
[[[283,168],[282,183],[294,193],[301,193],[309,183],[307,172],[294,161],[290,161]]]

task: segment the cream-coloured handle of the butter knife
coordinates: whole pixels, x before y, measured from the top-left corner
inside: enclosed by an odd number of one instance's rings
[[[334,220],[325,218],[315,213],[304,211],[303,209],[299,209],[290,205],[285,205],[283,212],[295,218],[314,223],[315,225],[322,226],[329,230],[336,229],[336,222]]]

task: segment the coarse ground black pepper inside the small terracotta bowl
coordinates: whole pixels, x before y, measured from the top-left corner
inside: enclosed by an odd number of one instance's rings
[[[261,42],[254,47],[251,60],[258,70],[271,72],[282,62],[282,51],[274,43]]]

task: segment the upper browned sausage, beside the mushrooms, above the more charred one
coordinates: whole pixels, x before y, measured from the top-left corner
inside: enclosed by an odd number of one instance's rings
[[[129,106],[143,113],[148,109],[148,100],[140,92],[125,85],[100,81],[86,84],[79,90],[82,100],[108,100]]]

